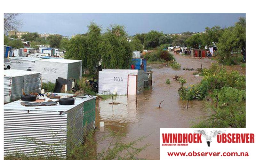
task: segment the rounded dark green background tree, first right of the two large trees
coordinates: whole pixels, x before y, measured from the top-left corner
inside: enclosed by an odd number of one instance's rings
[[[163,36],[164,34],[162,32],[158,32],[155,30],[151,30],[148,32],[144,39],[144,46],[145,48],[155,48],[159,46],[159,38]]]

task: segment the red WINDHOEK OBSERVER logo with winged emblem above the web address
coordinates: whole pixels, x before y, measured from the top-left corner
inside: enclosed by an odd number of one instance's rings
[[[194,133],[162,133],[162,146],[188,146],[189,143],[202,143],[206,140],[207,146],[213,138],[217,143],[254,143],[253,133],[226,133],[226,131],[194,130]]]

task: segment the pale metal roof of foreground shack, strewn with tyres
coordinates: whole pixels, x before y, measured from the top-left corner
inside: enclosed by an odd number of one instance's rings
[[[73,94],[68,93],[56,93],[59,96],[72,96]],[[83,98],[75,97],[75,104],[73,105],[60,105],[59,102],[54,106],[33,106],[33,107],[25,107],[20,104],[20,102],[24,102],[22,100],[17,100],[4,105],[4,110],[33,110],[33,111],[57,111],[57,112],[67,112],[68,110],[78,106],[84,101],[92,100],[96,98],[96,96],[92,96],[93,98],[86,95]],[[57,99],[51,99],[52,101],[57,101]],[[33,103],[33,102],[31,102]]]

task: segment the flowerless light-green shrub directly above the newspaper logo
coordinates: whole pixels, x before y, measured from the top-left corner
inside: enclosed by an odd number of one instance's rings
[[[193,125],[196,128],[245,128],[245,91],[232,87],[214,90],[212,103],[208,103],[213,114]]]

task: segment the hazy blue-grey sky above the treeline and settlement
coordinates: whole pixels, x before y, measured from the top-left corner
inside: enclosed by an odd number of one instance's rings
[[[201,32],[205,27],[235,24],[245,13],[22,13],[20,31],[71,36],[87,32],[91,21],[103,31],[110,24],[124,25],[129,35],[150,30],[164,33]]]

